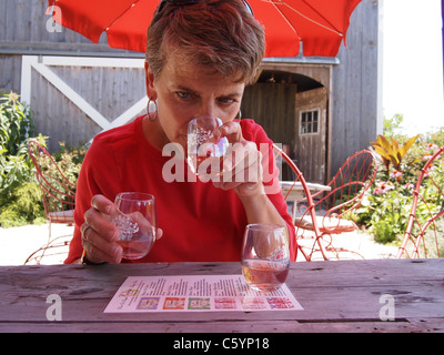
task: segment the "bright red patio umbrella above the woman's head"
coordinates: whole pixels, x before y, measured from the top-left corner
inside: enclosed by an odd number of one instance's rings
[[[48,0],[57,23],[113,48],[144,52],[147,28],[160,0]],[[265,28],[265,57],[335,57],[361,0],[249,0]]]

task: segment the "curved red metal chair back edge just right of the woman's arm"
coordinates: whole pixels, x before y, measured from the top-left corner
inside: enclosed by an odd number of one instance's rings
[[[273,150],[276,153],[276,158],[282,156],[282,159],[287,163],[290,169],[293,171],[294,176],[295,176],[294,183],[300,183],[302,185],[302,189],[303,189],[304,195],[305,195],[305,197],[304,197],[305,203],[303,205],[303,209],[300,209],[301,210],[300,213],[302,213],[303,216],[309,216],[311,219],[311,221],[313,223],[313,232],[315,234],[315,240],[316,240],[316,244],[319,246],[319,251],[321,252],[323,258],[327,260],[326,251],[324,248],[324,245],[322,244],[322,241],[320,240],[321,232],[320,232],[320,229],[317,227],[317,224],[316,224],[316,214],[315,214],[315,210],[314,210],[315,204],[313,202],[313,197],[312,197],[310,189],[309,189],[309,186],[306,184],[305,178],[302,174],[302,172],[300,171],[300,169],[296,166],[296,164],[293,162],[293,160],[291,160],[291,158],[287,154],[285,154],[285,152],[283,152],[282,149],[280,149],[278,145],[273,144]],[[290,193],[290,191],[289,191],[289,193]],[[297,236],[299,235],[299,231],[297,231],[299,227],[295,226],[295,229],[296,229],[295,235]],[[311,254],[313,252],[311,252],[310,254],[306,254],[302,250],[302,247],[300,247],[300,245],[299,245],[299,250],[302,252],[302,254],[304,255],[306,261],[311,260]]]

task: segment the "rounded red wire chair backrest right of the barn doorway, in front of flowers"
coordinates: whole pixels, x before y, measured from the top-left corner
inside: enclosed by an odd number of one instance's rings
[[[372,152],[362,150],[351,155],[329,182],[330,191],[313,194],[315,210],[324,219],[341,219],[359,207],[377,172]]]

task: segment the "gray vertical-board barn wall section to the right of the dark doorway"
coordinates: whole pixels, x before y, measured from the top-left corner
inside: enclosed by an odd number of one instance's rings
[[[347,45],[341,47],[340,64],[333,67],[332,173],[351,154],[367,148],[377,136],[377,0],[363,0],[356,7],[346,37]]]

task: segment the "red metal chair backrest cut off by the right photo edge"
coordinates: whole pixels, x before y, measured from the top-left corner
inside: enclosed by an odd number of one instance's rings
[[[396,257],[440,257],[444,243],[444,146],[421,170]]]

